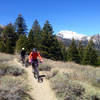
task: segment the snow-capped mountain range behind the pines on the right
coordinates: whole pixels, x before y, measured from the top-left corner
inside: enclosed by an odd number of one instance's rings
[[[90,39],[93,40],[95,43],[95,47],[97,50],[100,50],[100,34],[96,34],[93,36],[86,36],[84,34],[78,34],[77,32],[73,31],[60,31],[58,34],[56,34],[58,39],[62,40],[62,42],[69,47],[71,44],[72,39],[76,41],[76,44],[78,45],[79,41],[82,42],[83,46],[86,46]]]

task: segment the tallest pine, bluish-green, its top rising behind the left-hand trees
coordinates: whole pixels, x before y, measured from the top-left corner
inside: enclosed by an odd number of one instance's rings
[[[17,32],[18,37],[21,34],[26,34],[27,33],[27,26],[26,26],[25,20],[24,20],[24,18],[22,17],[21,14],[19,14],[17,19],[16,19],[15,30]]]

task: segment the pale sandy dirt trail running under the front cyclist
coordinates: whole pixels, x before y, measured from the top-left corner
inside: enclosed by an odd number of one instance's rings
[[[32,87],[30,94],[35,100],[57,100],[56,95],[50,88],[48,80],[44,78],[43,83],[38,83],[37,79],[35,79],[33,76],[31,66],[24,69],[28,73],[29,85]]]

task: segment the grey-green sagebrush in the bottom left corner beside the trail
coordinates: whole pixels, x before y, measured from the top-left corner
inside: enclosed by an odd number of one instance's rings
[[[4,76],[0,79],[0,82],[0,100],[27,100],[27,98],[30,98],[29,87],[25,81]]]

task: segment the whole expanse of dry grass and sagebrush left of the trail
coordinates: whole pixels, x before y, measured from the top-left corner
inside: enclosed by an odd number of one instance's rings
[[[28,93],[27,74],[14,58],[0,53],[0,100],[33,100]]]

